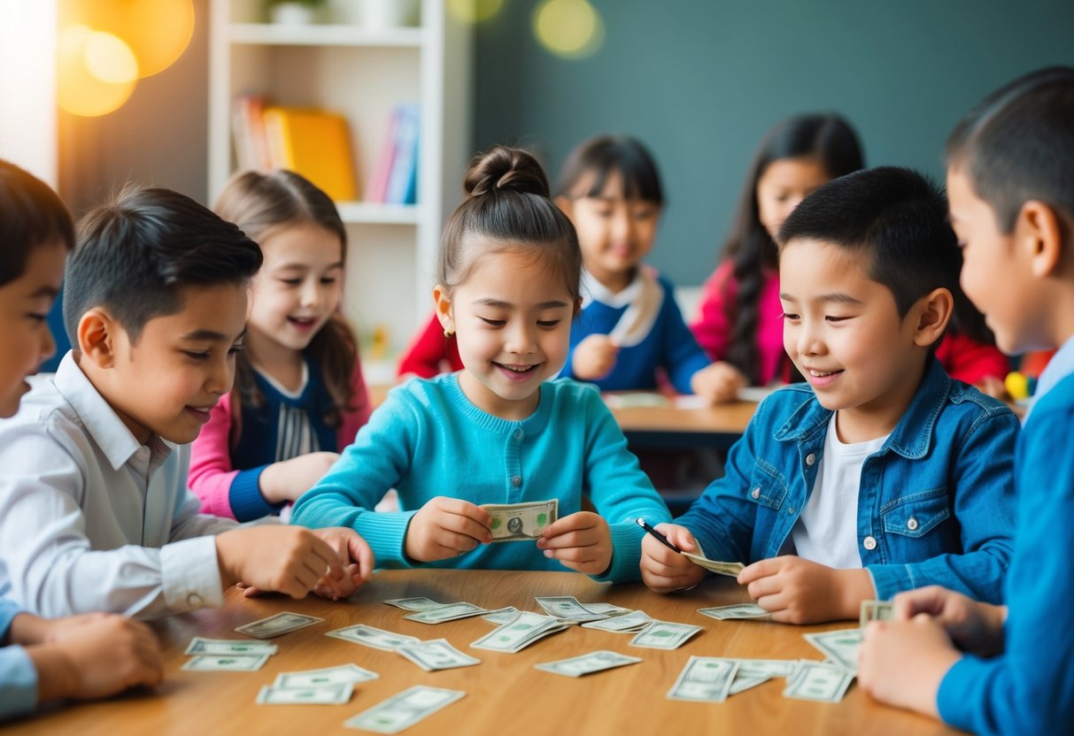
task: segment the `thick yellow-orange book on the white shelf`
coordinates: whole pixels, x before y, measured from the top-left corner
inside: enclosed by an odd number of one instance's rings
[[[263,113],[274,168],[306,177],[336,202],[358,200],[347,118],[308,107],[273,105]]]

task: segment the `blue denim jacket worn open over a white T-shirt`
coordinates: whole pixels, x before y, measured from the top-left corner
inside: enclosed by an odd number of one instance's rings
[[[725,475],[676,519],[713,560],[775,557],[810,494],[831,412],[806,384],[757,408]],[[942,585],[1002,601],[1012,554],[1018,419],[930,358],[895,431],[861,468],[858,553],[879,599]]]

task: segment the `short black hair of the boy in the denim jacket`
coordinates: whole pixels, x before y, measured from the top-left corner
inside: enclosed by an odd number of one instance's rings
[[[910,168],[867,168],[817,188],[783,222],[777,241],[782,251],[800,238],[867,256],[866,273],[891,291],[900,317],[933,289],[958,288],[961,253],[947,197]]]

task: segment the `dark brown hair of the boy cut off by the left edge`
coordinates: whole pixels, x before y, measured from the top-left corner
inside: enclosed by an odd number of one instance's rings
[[[41,179],[0,160],[0,286],[26,270],[41,246],[74,247],[74,223],[60,197]]]

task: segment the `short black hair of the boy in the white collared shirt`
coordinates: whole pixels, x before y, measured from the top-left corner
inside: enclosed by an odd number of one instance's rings
[[[63,277],[63,326],[104,307],[136,342],[145,323],[183,308],[188,286],[243,284],[261,249],[234,225],[169,189],[127,187],[78,223]]]

